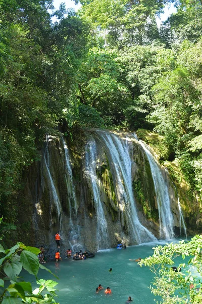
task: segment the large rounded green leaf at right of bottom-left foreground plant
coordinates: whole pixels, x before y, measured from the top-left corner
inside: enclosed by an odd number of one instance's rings
[[[37,256],[27,250],[21,252],[20,261],[22,263],[23,268],[28,271],[31,275],[37,275],[39,270],[39,261]]]

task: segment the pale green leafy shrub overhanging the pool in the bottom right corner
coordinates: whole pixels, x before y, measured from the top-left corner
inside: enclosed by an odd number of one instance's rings
[[[141,266],[149,267],[155,275],[150,289],[163,300],[157,303],[201,303],[201,247],[202,236],[196,235],[189,242],[183,240],[157,246],[153,256],[139,262]],[[177,267],[176,272],[171,268],[173,266]]]

